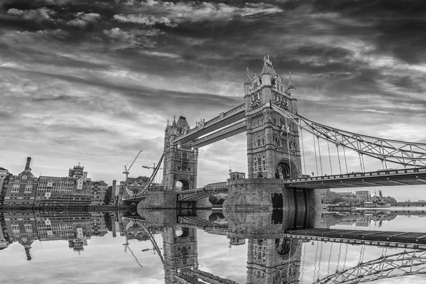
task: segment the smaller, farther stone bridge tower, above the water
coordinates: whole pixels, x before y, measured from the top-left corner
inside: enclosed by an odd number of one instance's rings
[[[192,190],[197,187],[198,148],[173,143],[175,138],[190,129],[185,116],[180,116],[178,122],[165,128],[163,185],[164,190],[177,190],[177,183],[182,183],[182,190]]]

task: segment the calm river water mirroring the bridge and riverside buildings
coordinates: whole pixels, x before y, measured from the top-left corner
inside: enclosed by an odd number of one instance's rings
[[[0,283],[426,283],[422,249],[285,239],[279,231],[244,239],[226,229],[221,212],[204,216],[192,219],[197,226],[146,226],[129,212],[4,212]],[[425,217],[329,213],[315,226],[426,236]]]

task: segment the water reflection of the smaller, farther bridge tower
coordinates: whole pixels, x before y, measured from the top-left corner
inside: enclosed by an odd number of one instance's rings
[[[190,277],[185,272],[198,268],[197,229],[165,227],[163,250],[165,283]]]

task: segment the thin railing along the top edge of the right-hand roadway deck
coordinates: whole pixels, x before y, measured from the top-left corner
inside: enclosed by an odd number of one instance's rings
[[[410,168],[410,169],[389,169],[389,170],[378,170],[375,172],[367,173],[345,173],[342,175],[322,175],[319,177],[306,177],[306,178],[292,178],[284,180],[284,182],[305,182],[313,180],[334,180],[339,178],[362,178],[362,177],[373,177],[378,175],[403,175],[408,173],[426,173],[426,168]]]

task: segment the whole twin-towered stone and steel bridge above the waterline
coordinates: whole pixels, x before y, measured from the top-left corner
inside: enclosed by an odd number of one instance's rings
[[[260,75],[251,76],[247,70],[241,104],[208,121],[197,121],[195,127],[188,124],[185,116],[167,124],[163,155],[156,167],[160,168],[163,161],[162,189],[149,187],[158,171],[155,169],[150,182],[138,192],[129,191],[124,200],[140,201],[140,209],[211,207],[208,197],[218,192],[197,187],[199,148],[244,132],[248,178],[232,180],[227,188],[217,189],[229,193],[225,209],[236,209],[233,204],[241,202],[246,208],[275,208],[295,194],[290,206],[312,210],[320,206],[317,189],[426,184],[426,168],[422,168],[426,167],[426,143],[366,136],[305,118],[297,109],[291,73],[285,86],[283,77],[265,57]],[[304,133],[305,138],[313,138],[315,161],[311,159],[309,165],[312,168],[315,163],[315,176],[307,175]],[[324,142],[328,156],[320,147]],[[335,146],[337,153],[334,163],[330,145]],[[358,155],[359,169],[348,168],[346,151]],[[366,159],[378,160],[384,170],[366,170]],[[395,170],[390,165],[399,168]],[[328,171],[331,175],[326,175]],[[178,182],[182,185],[179,190]],[[310,203],[302,204],[306,200]]]

